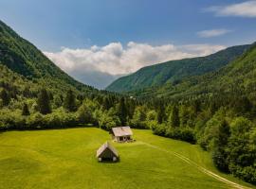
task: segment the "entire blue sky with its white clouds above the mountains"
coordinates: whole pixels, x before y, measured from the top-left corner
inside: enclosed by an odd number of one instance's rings
[[[0,19],[100,89],[144,66],[256,41],[255,0],[0,0]]]

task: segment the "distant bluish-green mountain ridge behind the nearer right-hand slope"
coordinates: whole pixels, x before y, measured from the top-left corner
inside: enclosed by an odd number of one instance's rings
[[[121,93],[167,83],[175,84],[185,77],[203,75],[220,69],[242,55],[248,47],[249,45],[232,46],[206,57],[171,60],[147,66],[132,75],[120,77],[106,90]]]

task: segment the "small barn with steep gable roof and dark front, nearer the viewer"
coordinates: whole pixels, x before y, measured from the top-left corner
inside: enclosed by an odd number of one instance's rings
[[[119,160],[119,153],[114,146],[111,146],[108,142],[104,143],[96,153],[98,161],[113,161],[117,162]]]

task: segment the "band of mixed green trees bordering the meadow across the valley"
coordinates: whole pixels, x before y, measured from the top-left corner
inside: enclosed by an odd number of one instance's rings
[[[0,92],[0,129],[57,129],[129,125],[157,135],[200,145],[221,171],[256,183],[256,107],[249,95],[205,94],[181,99],[138,100],[116,94],[53,95],[45,88],[35,98],[13,100]]]

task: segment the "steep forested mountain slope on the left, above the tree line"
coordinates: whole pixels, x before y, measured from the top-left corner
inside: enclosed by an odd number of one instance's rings
[[[32,43],[21,38],[2,21],[0,21],[0,64],[5,65],[9,72],[52,90],[63,92],[73,89],[83,93],[97,93],[94,88],[65,74]],[[1,71],[3,69],[1,66]]]

